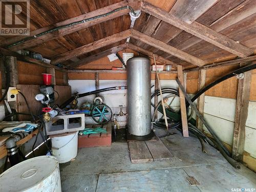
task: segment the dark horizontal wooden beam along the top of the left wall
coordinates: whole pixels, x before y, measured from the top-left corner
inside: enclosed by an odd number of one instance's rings
[[[25,62],[32,63],[34,65],[38,65],[38,66],[42,66],[42,67],[48,67],[48,68],[54,68],[54,69],[62,71],[62,72],[67,72],[66,69],[62,69],[60,67],[51,65],[49,63],[46,63],[46,62],[31,58],[31,57],[28,57],[28,56],[25,56],[25,55],[20,55],[19,53],[16,53],[14,51],[10,51],[8,49],[4,49],[4,48],[0,47],[0,52],[3,55],[16,57],[17,60],[22,60],[22,61],[25,61]]]

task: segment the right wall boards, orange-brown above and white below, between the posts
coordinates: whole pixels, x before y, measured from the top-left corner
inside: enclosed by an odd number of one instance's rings
[[[206,70],[206,85],[224,76],[238,66],[228,66]],[[187,74],[187,92],[196,94],[198,91],[198,72]],[[231,77],[205,92],[204,117],[214,127],[221,140],[232,146],[234,117],[236,112],[238,79]],[[256,70],[252,71],[250,102],[246,121],[246,138],[244,162],[256,171]],[[205,127],[204,127],[205,128]],[[206,130],[206,129],[205,129]]]

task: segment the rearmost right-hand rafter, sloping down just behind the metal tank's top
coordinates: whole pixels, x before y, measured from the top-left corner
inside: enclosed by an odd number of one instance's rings
[[[134,44],[129,43],[128,44],[128,48],[130,48],[131,50],[134,50],[134,51],[136,51],[138,53],[141,53],[143,55],[146,55],[146,56],[148,56],[150,58],[153,58],[153,54],[154,53],[152,53],[150,51],[147,51],[147,50],[145,50],[145,49],[143,49],[141,47],[138,47],[138,46],[136,46]],[[173,61],[170,61],[170,60],[168,60],[168,59],[166,59],[164,57],[161,57],[159,55],[156,55],[156,54],[155,54],[155,57],[156,57],[156,60],[164,63],[165,65],[173,65],[173,66],[177,67],[177,63],[175,63]]]

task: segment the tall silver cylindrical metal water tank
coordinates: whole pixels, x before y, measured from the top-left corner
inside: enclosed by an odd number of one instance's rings
[[[133,57],[127,60],[127,125],[136,136],[151,132],[150,59]]]

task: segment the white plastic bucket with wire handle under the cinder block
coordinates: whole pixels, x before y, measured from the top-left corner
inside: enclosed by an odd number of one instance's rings
[[[78,132],[65,136],[52,137],[52,155],[59,163],[69,162],[77,155]]]

